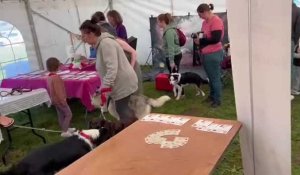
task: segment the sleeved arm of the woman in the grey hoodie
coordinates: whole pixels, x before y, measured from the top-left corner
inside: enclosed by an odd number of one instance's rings
[[[106,41],[107,40],[107,41]],[[106,67],[106,74],[103,75],[103,87],[113,87],[118,72],[118,54],[116,46],[111,39],[104,39],[99,46],[103,55],[103,62]]]

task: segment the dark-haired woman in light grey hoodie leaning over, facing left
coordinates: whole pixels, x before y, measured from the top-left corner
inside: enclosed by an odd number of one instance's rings
[[[96,69],[102,78],[100,92],[103,96],[110,93],[121,122],[131,124],[136,116],[128,103],[130,96],[137,91],[138,80],[122,47],[114,36],[107,32],[101,34],[100,27],[91,20],[84,21],[80,31],[83,42],[97,49]]]

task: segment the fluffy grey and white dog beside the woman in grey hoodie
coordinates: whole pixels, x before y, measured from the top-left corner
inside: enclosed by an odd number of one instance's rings
[[[96,92],[91,97],[91,99],[92,99],[92,105],[94,105],[96,108],[100,108],[101,110],[103,110],[103,107],[100,105],[101,104],[100,93]],[[138,119],[141,119],[144,116],[151,113],[152,107],[161,107],[162,105],[165,104],[165,102],[169,101],[170,99],[171,98],[167,95],[163,95],[157,99],[148,98],[143,95],[132,95],[130,97],[129,107],[134,111],[135,116]],[[107,110],[113,117],[115,117],[118,120],[120,119],[116,111],[115,102],[113,100],[108,100]]]

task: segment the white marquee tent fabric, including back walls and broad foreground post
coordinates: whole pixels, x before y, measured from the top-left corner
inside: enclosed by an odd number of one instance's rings
[[[95,11],[113,8],[123,16],[128,36],[138,38],[143,64],[151,50],[149,17],[196,14],[202,2],[213,3],[215,12],[228,11],[245,174],[291,174],[291,0],[1,0],[0,21],[21,32],[31,69],[38,70],[50,56],[65,61],[70,32],[79,34],[80,23]],[[81,45],[77,52],[87,50]]]

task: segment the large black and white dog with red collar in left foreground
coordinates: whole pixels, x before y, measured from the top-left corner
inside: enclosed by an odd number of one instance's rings
[[[0,175],[53,175],[110,138],[107,128],[76,131],[73,136],[29,153]]]

